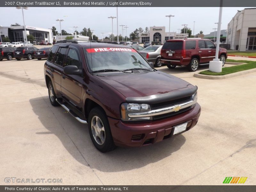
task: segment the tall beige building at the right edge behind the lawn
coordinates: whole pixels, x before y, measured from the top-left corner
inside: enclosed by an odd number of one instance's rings
[[[256,8],[236,13],[228,23],[227,43],[232,50],[256,50]]]

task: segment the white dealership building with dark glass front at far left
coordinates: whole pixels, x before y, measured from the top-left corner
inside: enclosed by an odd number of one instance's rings
[[[1,27],[1,37],[8,36],[11,42],[24,42],[25,28],[24,26]],[[52,30],[26,25],[27,35],[33,35],[35,42],[45,41],[52,43]],[[26,39],[26,38],[25,38]],[[33,43],[33,42],[31,42]]]

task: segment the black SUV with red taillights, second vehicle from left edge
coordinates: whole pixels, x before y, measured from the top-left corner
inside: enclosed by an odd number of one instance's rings
[[[34,53],[35,51],[37,51],[38,49],[36,47],[18,47],[14,50],[14,57],[17,60],[21,60],[21,59],[34,59]]]

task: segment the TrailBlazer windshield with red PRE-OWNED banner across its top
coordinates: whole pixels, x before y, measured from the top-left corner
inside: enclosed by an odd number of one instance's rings
[[[102,47],[84,48],[86,61],[90,70],[127,70],[133,68],[148,69],[150,65],[144,58],[131,48]]]

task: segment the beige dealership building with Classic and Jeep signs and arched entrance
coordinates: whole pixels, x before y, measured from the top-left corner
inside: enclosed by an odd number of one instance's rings
[[[139,42],[144,43],[145,41],[160,41],[165,42],[169,39],[169,32],[165,32],[165,27],[150,27],[149,32],[141,32],[139,33],[140,38]],[[170,32],[170,39],[178,39],[178,38],[186,38],[188,37],[188,33],[176,33]]]

